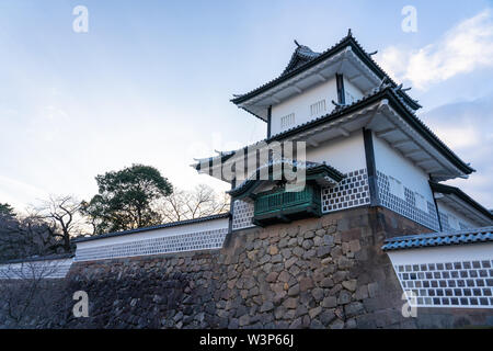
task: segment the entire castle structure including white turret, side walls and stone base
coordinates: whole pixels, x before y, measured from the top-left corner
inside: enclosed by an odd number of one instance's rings
[[[295,44],[280,76],[231,100],[265,138],[193,165],[230,184],[229,212],[80,237],[0,280],[88,291],[94,318],[50,314],[64,327],[493,326],[492,213],[444,183],[474,169],[351,31],[322,53]]]

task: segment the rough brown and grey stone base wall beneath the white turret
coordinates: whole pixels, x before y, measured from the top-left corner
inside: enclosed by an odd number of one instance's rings
[[[49,307],[51,317],[31,319],[24,326],[440,328],[491,324],[488,310],[435,308],[423,316],[419,310],[419,318],[402,316],[402,290],[380,247],[387,237],[429,230],[390,211],[363,207],[234,231],[220,250],[79,262],[59,282],[64,297]],[[89,294],[88,318],[71,314],[71,297],[79,290]]]

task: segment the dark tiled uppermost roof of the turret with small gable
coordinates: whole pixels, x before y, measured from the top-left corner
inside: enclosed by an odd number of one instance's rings
[[[367,65],[367,67],[381,80],[386,78],[392,87],[397,87],[398,84],[390,78],[390,76],[383,71],[383,69],[378,66],[378,64],[372,59],[371,55],[365,52],[365,49],[359,45],[359,43],[354,38],[352,35],[351,30],[348,31],[347,35],[342,38],[337,44],[332,46],[331,48],[326,49],[323,53],[314,53],[309,47],[299,45],[296,48],[295,53],[291,56],[291,59],[286,67],[286,69],[283,71],[283,73],[268,81],[267,83],[248,92],[241,95],[236,97],[234,99],[231,99],[231,102],[234,104],[240,104],[242,102],[245,102],[257,94],[270,90],[271,88],[303,72],[305,70],[322,63],[323,60],[328,59],[329,57],[332,57],[342,50],[344,50],[347,46],[352,48],[352,50],[356,54],[356,56]],[[411,97],[408,95],[404,91],[400,90],[398,92],[400,98],[404,100],[404,102],[410,105],[413,110],[417,110],[421,107],[421,105],[413,100]]]

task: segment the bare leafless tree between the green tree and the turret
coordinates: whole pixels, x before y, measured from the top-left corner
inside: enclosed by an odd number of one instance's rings
[[[229,211],[229,195],[199,184],[193,191],[175,189],[157,207],[164,222],[193,219]]]

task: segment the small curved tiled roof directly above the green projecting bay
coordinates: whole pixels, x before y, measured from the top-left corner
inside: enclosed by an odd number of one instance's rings
[[[260,183],[262,183],[263,180],[260,179],[260,174],[263,169],[268,168],[268,176],[272,176],[272,168],[273,165],[275,165],[275,162],[276,161],[271,161],[267,165],[259,167],[256,171],[253,174],[251,174],[250,178],[245,179],[234,189],[228,191],[228,193],[232,197],[237,199],[244,197],[251,191],[253,191]],[[288,163],[289,166],[295,167],[297,169],[305,169],[307,180],[311,180],[313,178],[312,176],[317,174],[317,177],[329,177],[333,182],[339,183],[345,177],[342,172],[340,172],[339,170],[326,163],[311,162],[311,161],[297,162],[294,160],[280,160],[279,163]],[[272,179],[270,180],[272,181]]]

